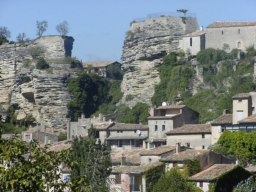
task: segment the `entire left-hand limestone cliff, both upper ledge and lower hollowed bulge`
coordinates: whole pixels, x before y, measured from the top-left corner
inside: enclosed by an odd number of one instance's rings
[[[67,79],[75,76],[75,71],[65,64],[51,64],[51,71],[36,70],[24,61],[32,59],[28,47],[40,45],[46,49],[45,59],[63,59],[71,56],[73,37],[43,36],[26,43],[0,46],[0,104],[10,103],[16,111],[17,119],[32,116],[36,122],[54,128],[65,128],[69,112],[66,107],[72,99],[68,92]],[[57,68],[56,68],[57,66]]]

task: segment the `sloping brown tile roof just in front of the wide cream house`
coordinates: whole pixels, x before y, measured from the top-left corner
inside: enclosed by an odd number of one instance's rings
[[[191,159],[193,157],[202,155],[206,152],[209,152],[211,150],[207,150],[207,149],[201,149],[201,150],[196,150],[196,149],[191,149],[191,150],[185,150],[185,151],[181,151],[178,154],[173,154],[173,155],[169,155],[165,158],[160,159],[160,161],[184,161],[187,159]]]

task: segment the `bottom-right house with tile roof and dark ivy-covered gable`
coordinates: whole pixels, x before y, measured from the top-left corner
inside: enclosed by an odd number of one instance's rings
[[[187,179],[187,181],[195,181],[196,186],[203,191],[209,190],[209,183],[215,183],[215,191],[232,191],[232,189],[240,182],[252,174],[243,167],[234,164],[214,164],[209,168],[195,174]]]

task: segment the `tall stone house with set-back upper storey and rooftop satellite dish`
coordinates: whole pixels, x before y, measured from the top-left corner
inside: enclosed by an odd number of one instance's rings
[[[184,124],[198,123],[199,114],[185,105],[151,107],[148,117],[149,140],[148,148],[161,145],[166,139],[166,132]],[[160,142],[154,139],[162,139]],[[164,141],[164,140],[163,140]]]

